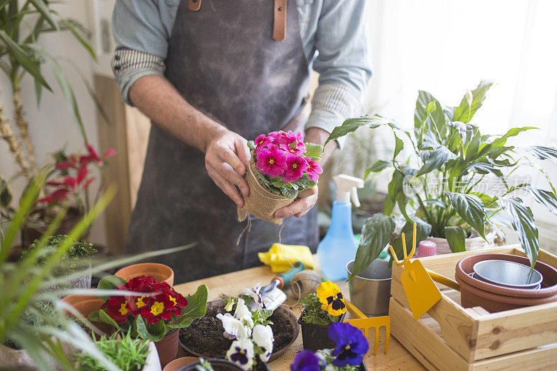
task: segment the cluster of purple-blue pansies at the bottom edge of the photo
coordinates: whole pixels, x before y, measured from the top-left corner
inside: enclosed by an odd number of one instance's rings
[[[347,323],[334,323],[329,326],[327,334],[334,344],[331,349],[313,352],[301,350],[294,357],[292,371],[365,371],[363,355],[368,352],[368,339],[356,327]]]

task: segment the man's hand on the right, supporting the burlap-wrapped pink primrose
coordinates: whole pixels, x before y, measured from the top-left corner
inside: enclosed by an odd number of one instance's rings
[[[318,129],[317,127],[312,127],[306,132],[304,140],[306,142],[323,145],[328,137],[328,132],[325,132],[323,129]],[[336,148],[338,148],[336,141],[327,143],[327,147],[324,148],[323,155],[321,157],[321,166],[324,166],[325,162],[329,159]],[[319,190],[317,189],[317,186],[310,189],[304,189],[304,191],[301,191],[298,194],[298,198],[293,203],[277,210],[277,212],[274,213],[275,218],[285,218],[290,215],[294,215],[299,218],[306,215],[315,203],[317,203],[318,192]]]

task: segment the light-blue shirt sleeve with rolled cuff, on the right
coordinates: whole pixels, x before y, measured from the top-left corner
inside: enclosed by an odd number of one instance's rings
[[[361,115],[362,101],[371,77],[366,40],[366,1],[324,0],[315,34],[319,86],[312,100],[306,130],[319,127],[331,132],[346,118]],[[340,138],[342,145],[344,138]]]

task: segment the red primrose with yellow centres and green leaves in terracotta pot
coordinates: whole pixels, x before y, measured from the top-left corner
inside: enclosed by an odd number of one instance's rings
[[[139,276],[130,281],[105,276],[98,288],[123,290],[132,295],[103,297],[105,303],[101,309],[88,318],[109,324],[120,333],[131,331],[134,338],[154,341],[162,366],[176,358],[178,329],[205,315],[207,309],[205,285],[199,286],[195,294],[183,297],[171,285],[152,276]]]

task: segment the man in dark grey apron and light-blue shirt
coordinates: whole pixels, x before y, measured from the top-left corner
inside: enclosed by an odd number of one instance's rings
[[[125,253],[198,242],[155,258],[187,282],[258,265],[281,228],[252,218],[237,239],[248,194],[246,140],[296,129],[308,72],[320,72],[306,141],[324,143],[361,113],[370,77],[363,0],[117,0],[116,81],[152,120]],[[316,49],[319,56],[315,59]],[[315,62],[314,62],[315,59]],[[301,129],[303,125],[301,123]],[[325,157],[336,148],[331,143]],[[285,244],[315,251],[317,187],[276,217]]]

